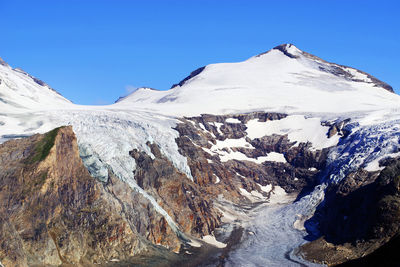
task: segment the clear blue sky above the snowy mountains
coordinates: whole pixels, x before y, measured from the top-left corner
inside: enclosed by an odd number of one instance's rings
[[[399,2],[0,0],[0,57],[79,104],[166,90],[198,67],[281,43],[399,92]]]

